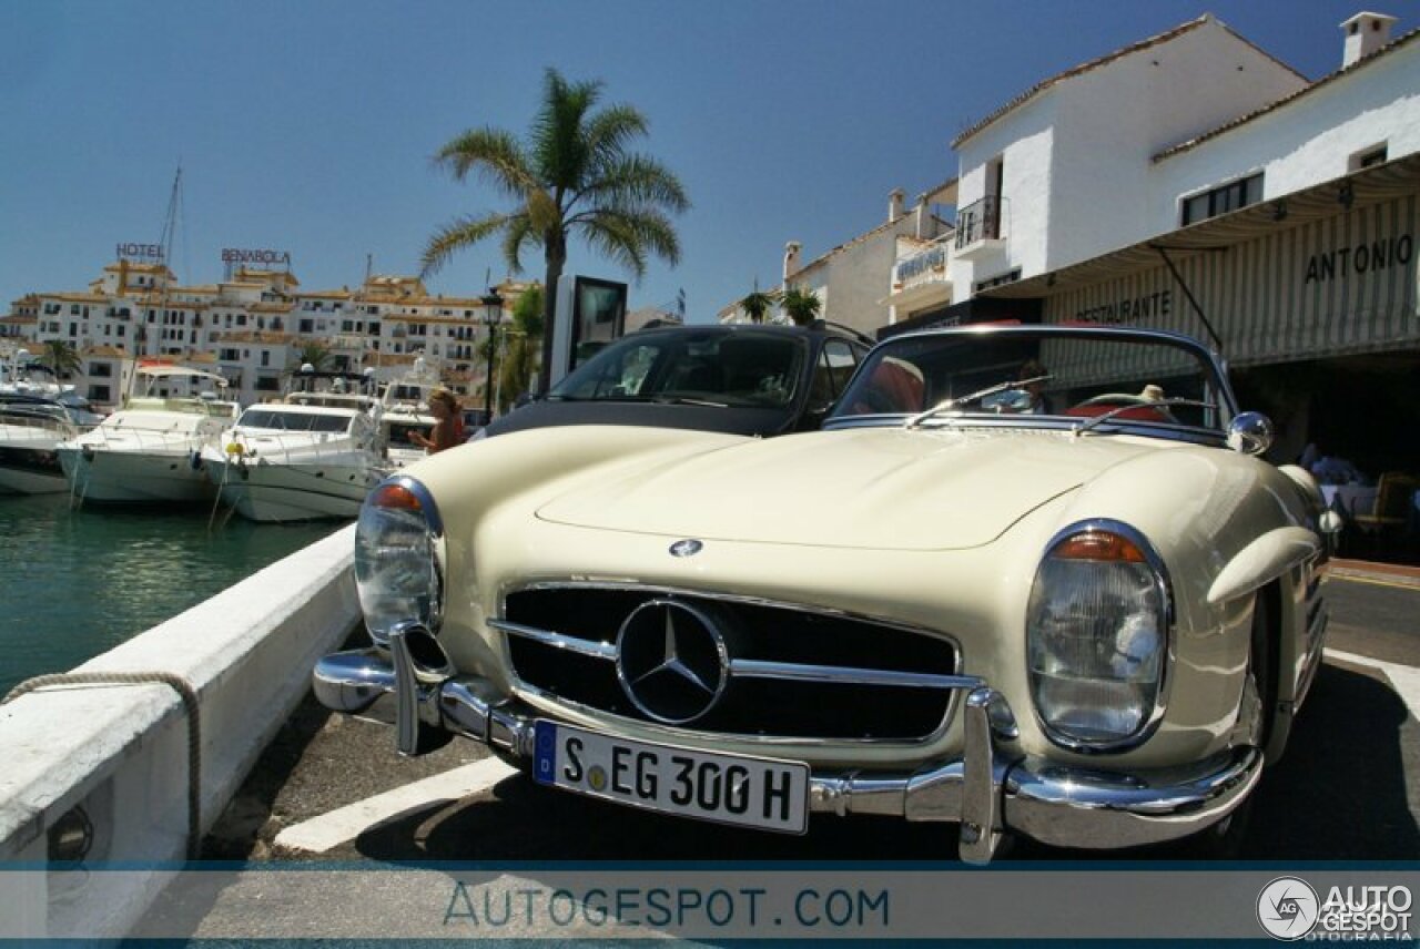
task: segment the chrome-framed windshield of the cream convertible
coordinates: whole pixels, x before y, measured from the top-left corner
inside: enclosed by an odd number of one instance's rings
[[[1014,416],[1022,423],[1068,420],[1086,431],[1109,421],[1221,431],[1233,413],[1217,362],[1194,340],[1021,326],[882,343],[829,423],[856,417],[917,427]]]

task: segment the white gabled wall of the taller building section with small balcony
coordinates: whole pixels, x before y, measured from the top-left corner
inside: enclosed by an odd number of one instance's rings
[[[958,207],[1004,156],[1008,238],[1004,255],[954,264],[954,299],[1017,267],[1028,278],[1173,230],[1152,156],[1305,85],[1216,18],[1055,81],[957,146]]]

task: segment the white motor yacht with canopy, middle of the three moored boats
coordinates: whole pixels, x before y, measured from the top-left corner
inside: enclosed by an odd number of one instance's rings
[[[214,392],[151,394],[180,382],[226,387],[227,380],[183,366],[141,366],[149,394],[125,399],[124,407],[95,428],[55,445],[70,491],[105,504],[195,502],[212,499],[202,472],[202,445],[220,435],[239,406]]]

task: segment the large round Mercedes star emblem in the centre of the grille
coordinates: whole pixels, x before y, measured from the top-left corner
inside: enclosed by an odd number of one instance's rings
[[[679,600],[648,600],[616,634],[616,678],[642,712],[686,725],[720,701],[730,682],[730,653],[704,611]]]

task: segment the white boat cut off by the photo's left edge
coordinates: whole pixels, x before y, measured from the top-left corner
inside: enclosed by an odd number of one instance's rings
[[[99,416],[45,396],[0,392],[0,494],[68,488],[55,447],[94,427]]]

